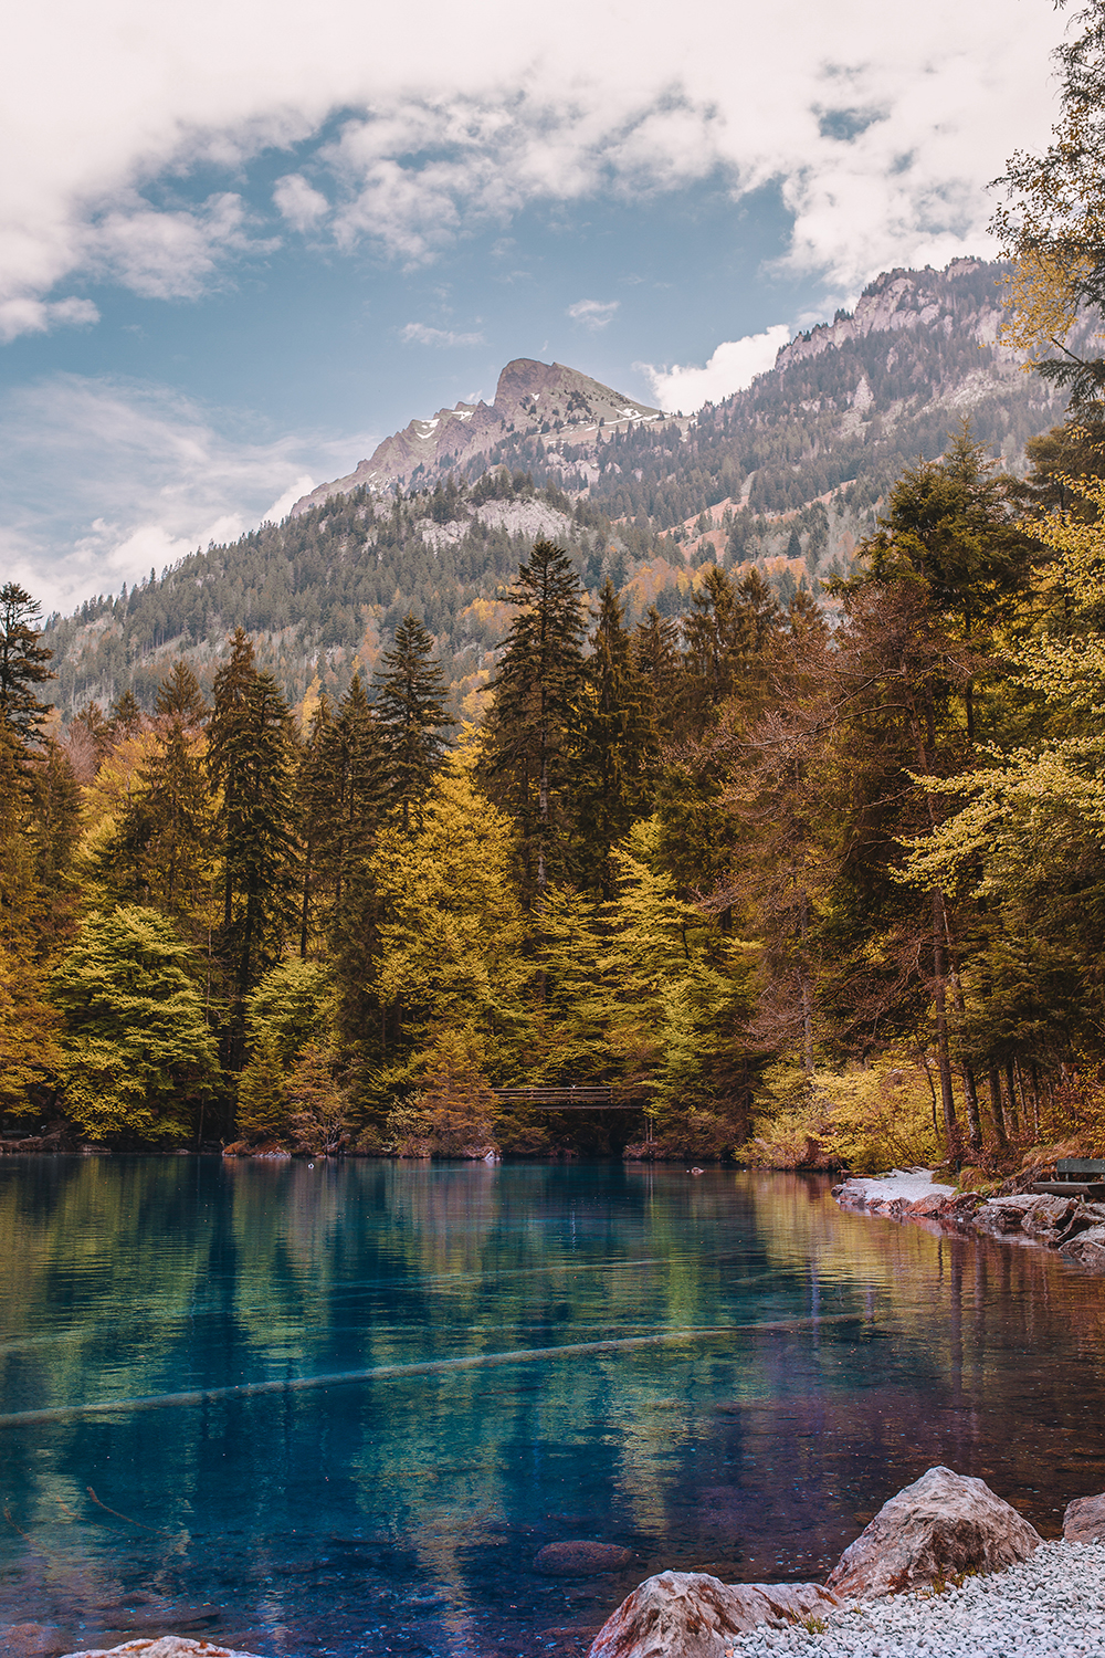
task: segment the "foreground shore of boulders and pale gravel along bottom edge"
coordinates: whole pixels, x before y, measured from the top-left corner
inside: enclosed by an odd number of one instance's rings
[[[562,1575],[577,1565],[565,1554],[545,1568]],[[15,1640],[10,1650],[31,1648]],[[775,1653],[1105,1658],[1105,1496],[1070,1502],[1062,1540],[1044,1542],[984,1481],[931,1467],[883,1504],[825,1583],[722,1583],[706,1572],[659,1572],[606,1618],[588,1658]],[[164,1635],[66,1658],[252,1655]]]

